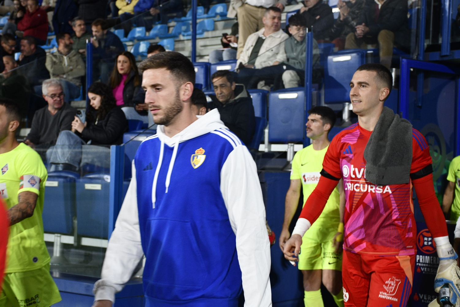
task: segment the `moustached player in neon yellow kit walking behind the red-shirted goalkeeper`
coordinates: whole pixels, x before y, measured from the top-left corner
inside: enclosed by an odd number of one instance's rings
[[[311,145],[298,151],[292,161],[291,185],[286,194],[284,223],[280,235],[280,248],[289,239],[289,225],[299,203],[300,187],[303,203],[315,189],[322,170],[322,161],[330,143],[328,133],[336,116],[332,109],[316,106],[308,111],[307,137]],[[342,195],[340,195],[340,192]],[[341,181],[328,199],[326,207],[316,222],[305,232],[299,254],[299,270],[302,271],[305,290],[305,307],[323,307],[321,283],[334,297],[339,307],[344,306],[342,294],[342,241],[343,209],[345,195]]]

